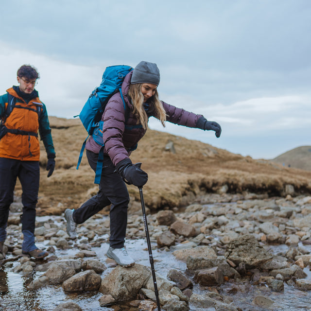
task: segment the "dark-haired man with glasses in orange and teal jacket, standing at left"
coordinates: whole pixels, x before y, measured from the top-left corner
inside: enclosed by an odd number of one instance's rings
[[[49,255],[35,246],[34,234],[40,177],[38,131],[48,155],[48,177],[55,167],[47,109],[35,90],[37,79],[37,70],[30,65],[23,65],[17,70],[19,86],[7,89],[6,94],[0,96],[0,254],[3,257],[9,209],[14,200],[17,177],[22,187],[22,254],[36,259]]]

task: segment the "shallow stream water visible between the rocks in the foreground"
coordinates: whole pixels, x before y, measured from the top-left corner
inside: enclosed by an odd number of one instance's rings
[[[49,218],[59,216],[49,216]],[[37,221],[44,220],[43,217],[37,217]],[[96,236],[94,240],[106,240],[108,236]],[[44,242],[37,242],[38,247],[46,246]],[[155,272],[161,276],[166,277],[171,269],[179,270],[183,273],[186,272],[186,263],[176,260],[173,256],[173,249],[170,251],[159,250],[156,248],[156,243],[152,241],[153,257],[155,259]],[[139,264],[150,267],[149,254],[147,249],[146,240],[130,240],[126,241],[126,247]],[[97,258],[102,261],[107,269],[102,273],[102,278],[109,274],[114,268],[106,261],[105,253],[108,244],[102,243],[100,247],[92,247],[91,250],[95,251]],[[279,251],[287,248],[286,245],[271,246],[271,250],[277,254]],[[56,248],[55,255],[58,258],[77,253],[77,248],[68,250],[60,250]],[[45,262],[44,260],[41,260]],[[77,303],[83,311],[120,311],[130,310],[138,311],[137,308],[130,307],[128,304],[115,305],[112,307],[100,307],[98,299],[102,296],[101,293],[87,292],[87,293],[66,293],[63,291],[61,285],[50,285],[40,288],[35,291],[27,289],[27,285],[34,279],[43,274],[43,272],[35,272],[32,276],[21,276],[12,272],[13,268],[19,264],[18,261],[8,262],[5,266],[0,268],[0,310],[2,311],[52,311],[59,304],[73,301]],[[311,279],[309,267],[304,268]],[[215,287],[219,294],[229,297],[232,300],[232,305],[239,307],[241,311],[310,311],[311,310],[311,291],[301,291],[295,289],[294,286],[289,286],[284,283],[284,291],[273,292],[270,288],[264,285],[252,285],[250,280],[236,282],[229,280],[220,287]],[[210,289],[209,290],[213,290]],[[200,288],[195,285],[193,293],[204,294],[206,289]],[[264,295],[273,299],[274,304],[270,307],[257,306],[252,303],[257,295]],[[199,309],[190,305],[191,311],[214,311],[214,308]]]

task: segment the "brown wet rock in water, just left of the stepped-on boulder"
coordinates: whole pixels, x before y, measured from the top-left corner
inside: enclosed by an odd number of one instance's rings
[[[63,283],[66,292],[97,291],[102,278],[93,270],[86,270],[71,276]]]

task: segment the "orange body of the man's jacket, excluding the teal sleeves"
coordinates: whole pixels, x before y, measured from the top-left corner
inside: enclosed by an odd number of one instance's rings
[[[25,161],[39,161],[40,146],[38,140],[39,120],[37,106],[43,107],[39,98],[36,97],[27,104],[13,87],[7,90],[14,96],[16,104],[11,114],[3,122],[8,129],[17,129],[32,133],[31,135],[21,135],[7,133],[0,139],[0,157],[12,158]],[[4,97],[5,95],[3,95]],[[8,97],[8,96],[7,96]],[[7,99],[5,108],[7,107]],[[3,118],[3,115],[2,115]],[[36,136],[35,136],[36,135]]]

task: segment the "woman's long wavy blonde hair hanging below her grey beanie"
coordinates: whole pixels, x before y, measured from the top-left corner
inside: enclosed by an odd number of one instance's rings
[[[128,95],[132,99],[132,104],[133,104],[133,113],[134,116],[137,117],[138,121],[137,123],[140,123],[144,129],[148,127],[148,117],[147,113],[144,109],[144,97],[141,93],[141,86],[142,83],[137,83],[137,84],[131,84]],[[153,108],[155,109],[155,117],[159,119],[165,127],[165,121],[166,121],[166,112],[163,108],[162,103],[159,100],[159,95],[157,90],[155,90],[155,94],[149,99],[148,104],[152,105]]]

